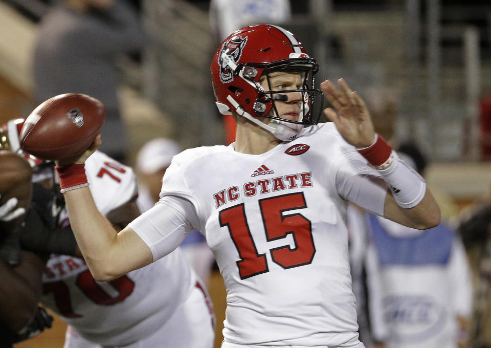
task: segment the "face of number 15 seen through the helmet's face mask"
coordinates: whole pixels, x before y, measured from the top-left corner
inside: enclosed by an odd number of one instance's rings
[[[303,73],[276,71],[269,74],[271,91],[301,90],[303,88]],[[270,90],[265,77],[260,80],[266,91]],[[302,94],[300,92],[285,93],[286,101],[275,100],[278,116],[285,120],[300,121],[302,117]],[[272,109],[269,116],[274,115]]]

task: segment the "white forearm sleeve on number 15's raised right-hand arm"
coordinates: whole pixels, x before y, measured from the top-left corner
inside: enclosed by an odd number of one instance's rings
[[[425,179],[401,160],[395,151],[392,151],[387,162],[377,167],[377,171],[389,184],[397,205],[402,208],[413,208],[418,205],[425,197]]]

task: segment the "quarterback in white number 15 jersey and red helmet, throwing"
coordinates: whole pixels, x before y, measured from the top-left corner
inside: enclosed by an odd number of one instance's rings
[[[157,262],[186,233],[206,236],[227,288],[222,348],[363,347],[348,264],[348,201],[418,229],[438,225],[425,181],[374,132],[344,80],[315,89],[318,65],[273,25],[244,27],[216,51],[219,111],[236,142],[174,156],[160,201],[118,232],[97,210],[80,157],[58,162],[88,267],[114,279]],[[323,93],[333,121],[318,124]],[[90,157],[87,161],[90,161]],[[92,183],[91,183],[92,185]],[[92,190],[94,191],[94,190]]]

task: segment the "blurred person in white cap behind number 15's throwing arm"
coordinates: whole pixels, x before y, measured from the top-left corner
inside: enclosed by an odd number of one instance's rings
[[[181,147],[175,141],[166,138],[150,140],[138,152],[137,203],[142,212],[150,209],[159,201],[162,178],[172,158],[180,152]],[[208,286],[214,257],[203,234],[196,230],[189,232],[180,249],[199,278]]]

